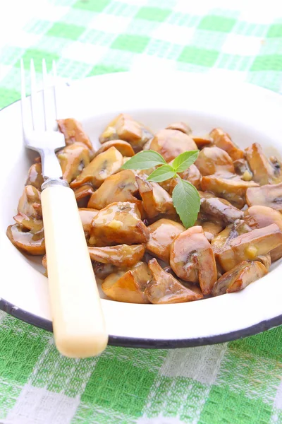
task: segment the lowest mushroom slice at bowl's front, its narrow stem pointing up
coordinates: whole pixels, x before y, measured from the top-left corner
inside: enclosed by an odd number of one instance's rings
[[[200,293],[186,288],[171,273],[164,271],[159,266],[157,259],[149,261],[149,269],[154,279],[148,283],[147,288],[145,288],[145,294],[151,303],[160,305],[202,299]]]

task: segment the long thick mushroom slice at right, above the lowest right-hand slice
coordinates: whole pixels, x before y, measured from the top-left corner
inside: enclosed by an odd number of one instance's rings
[[[229,271],[241,261],[253,261],[282,245],[282,231],[276,224],[252,230],[235,237],[217,254],[224,271]]]

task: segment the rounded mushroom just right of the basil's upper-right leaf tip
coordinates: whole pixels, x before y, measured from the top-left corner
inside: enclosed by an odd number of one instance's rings
[[[202,175],[212,175],[217,172],[234,172],[233,160],[222,148],[204,147],[195,162]]]

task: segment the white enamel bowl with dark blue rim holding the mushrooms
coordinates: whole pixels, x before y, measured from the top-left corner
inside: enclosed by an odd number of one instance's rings
[[[80,120],[92,143],[106,124],[127,112],[154,131],[176,121],[195,134],[221,126],[239,146],[261,143],[282,151],[282,98],[256,86],[190,73],[116,73],[87,78],[61,90],[60,117]],[[26,257],[6,237],[30,167],[23,147],[20,102],[0,112],[0,307],[51,331],[47,278],[36,257]],[[239,293],[177,305],[134,305],[102,300],[109,343],[175,348],[229,341],[282,324],[282,268]],[[79,283],[79,282],[78,282]]]

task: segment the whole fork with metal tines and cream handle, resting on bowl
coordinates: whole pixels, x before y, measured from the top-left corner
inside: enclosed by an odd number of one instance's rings
[[[25,70],[21,71],[21,106],[25,146],[42,160],[42,215],[48,261],[49,295],[56,347],[70,358],[99,355],[108,341],[99,292],[73,190],[62,179],[55,151],[66,146],[63,134],[49,119],[57,115],[56,64],[53,62],[54,105],[48,100],[47,68],[42,61],[44,122],[37,119],[39,93],[33,60],[30,62],[30,105],[25,96]],[[31,109],[31,111],[29,111]],[[30,119],[31,117],[31,119]],[[56,116],[57,119],[57,116]]]

